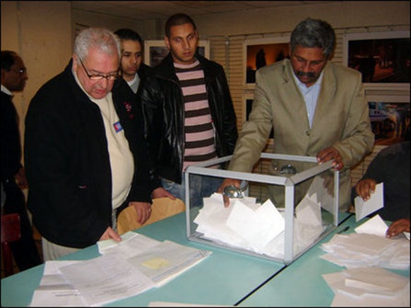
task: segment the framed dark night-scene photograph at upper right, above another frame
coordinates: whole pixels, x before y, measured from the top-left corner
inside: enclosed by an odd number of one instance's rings
[[[345,34],[342,57],[366,89],[410,90],[409,30]]]

